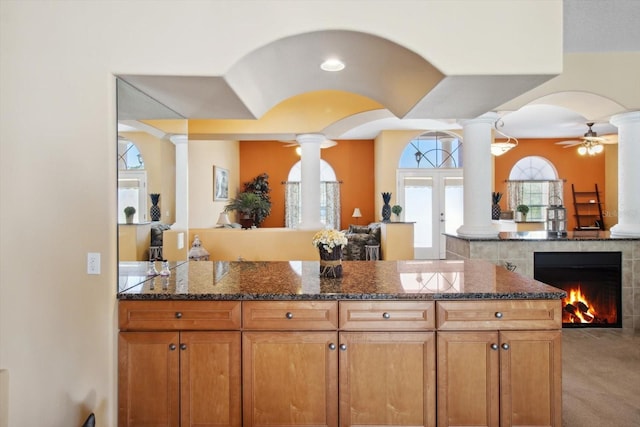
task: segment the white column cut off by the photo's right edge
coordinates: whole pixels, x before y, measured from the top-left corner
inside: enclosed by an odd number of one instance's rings
[[[640,237],[640,111],[616,114],[618,128],[618,223],[611,236]]]

